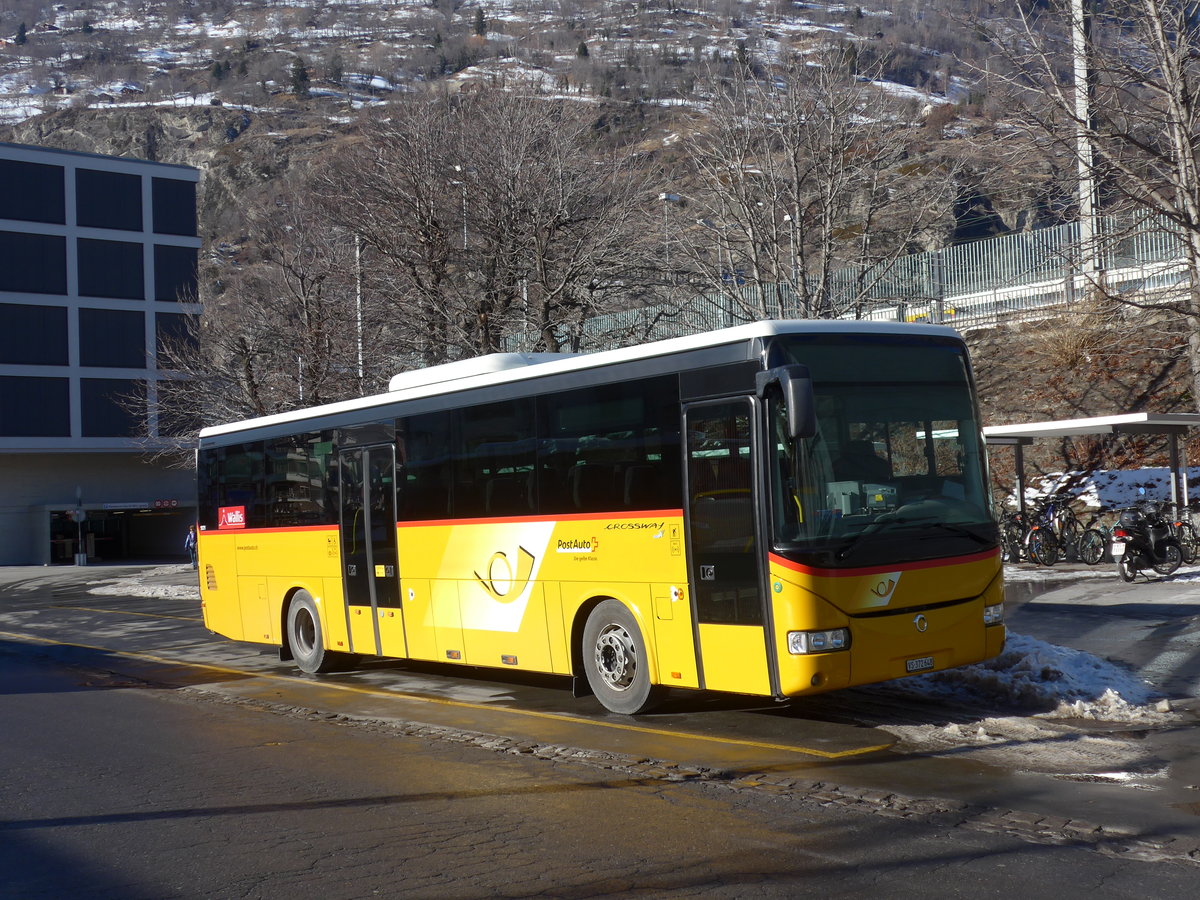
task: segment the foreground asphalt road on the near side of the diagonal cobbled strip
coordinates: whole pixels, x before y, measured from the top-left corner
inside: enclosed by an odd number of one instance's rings
[[[0,648],[11,898],[1184,896],[1189,866],[497,754]]]

